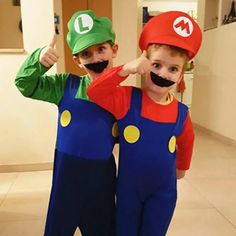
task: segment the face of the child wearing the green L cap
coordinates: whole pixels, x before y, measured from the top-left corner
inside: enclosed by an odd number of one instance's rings
[[[74,60],[77,65],[83,68],[89,75],[91,79],[95,79],[102,71],[93,70],[86,67],[86,65],[93,64],[96,69],[96,63],[101,63],[107,61],[106,68],[112,67],[112,60],[116,56],[118,46],[116,44],[110,45],[105,42],[102,44],[93,45],[84,51],[80,52],[77,57],[74,56]],[[94,64],[95,63],[95,64]]]

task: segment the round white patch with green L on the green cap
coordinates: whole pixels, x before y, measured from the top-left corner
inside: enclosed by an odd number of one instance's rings
[[[93,19],[90,15],[81,14],[74,22],[75,31],[78,34],[86,34],[93,28]]]

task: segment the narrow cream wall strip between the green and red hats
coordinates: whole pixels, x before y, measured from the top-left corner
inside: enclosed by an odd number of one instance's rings
[[[135,59],[139,55],[138,37],[141,30],[142,1],[113,0],[112,23],[119,46],[114,60],[115,65],[121,65]],[[129,76],[123,85],[140,86],[139,76]]]

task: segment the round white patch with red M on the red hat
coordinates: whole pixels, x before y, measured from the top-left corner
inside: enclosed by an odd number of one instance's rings
[[[174,31],[182,36],[182,37],[188,37],[193,32],[193,23],[191,20],[185,16],[180,16],[175,19],[173,23]]]

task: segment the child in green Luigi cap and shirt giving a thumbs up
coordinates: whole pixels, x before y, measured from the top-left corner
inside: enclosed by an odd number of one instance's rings
[[[90,10],[68,22],[67,43],[75,63],[87,72],[45,75],[58,60],[50,45],[34,51],[16,76],[20,92],[58,106],[53,183],[45,236],[114,235],[116,166],[114,117],[91,102],[86,90],[116,56],[111,21]]]

